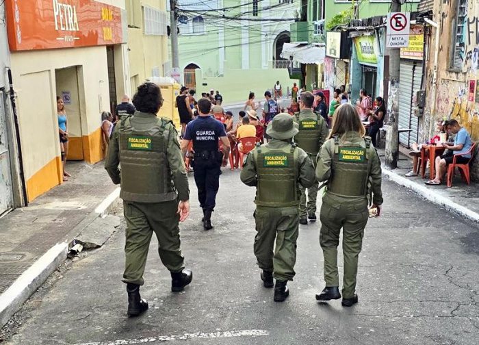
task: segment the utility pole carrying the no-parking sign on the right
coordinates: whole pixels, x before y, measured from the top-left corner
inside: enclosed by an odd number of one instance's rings
[[[401,12],[401,0],[393,0],[391,2],[391,12]],[[402,0],[404,2],[404,0]],[[387,120],[386,132],[386,150],[385,162],[389,169],[396,169],[398,167],[399,158],[399,75],[400,75],[400,59],[401,49],[386,50],[386,55],[389,55],[389,95],[388,108],[389,118]]]

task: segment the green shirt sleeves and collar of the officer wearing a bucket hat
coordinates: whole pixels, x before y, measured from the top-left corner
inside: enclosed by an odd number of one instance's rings
[[[272,139],[268,142],[268,147],[270,149],[283,149],[285,146],[291,145],[291,142]],[[314,167],[311,159],[309,159],[308,154],[298,147],[298,162],[296,162],[296,168],[298,169],[298,180],[301,186],[309,188],[313,186],[315,182],[314,176]],[[254,149],[248,153],[246,157],[246,162],[243,165],[243,170],[241,170],[241,181],[246,184],[246,186],[256,187],[257,186],[257,176],[256,176],[256,166],[255,162],[258,156],[257,149]]]

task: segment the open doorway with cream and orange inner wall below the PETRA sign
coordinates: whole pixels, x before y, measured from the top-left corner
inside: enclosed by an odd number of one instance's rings
[[[85,159],[83,133],[88,134],[88,131],[86,130],[82,67],[71,66],[55,70],[55,82],[57,96],[62,97],[65,103],[68,120],[67,159],[83,160]],[[80,89],[82,92],[79,92]]]

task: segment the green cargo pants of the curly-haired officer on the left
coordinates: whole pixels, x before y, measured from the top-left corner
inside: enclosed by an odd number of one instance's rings
[[[125,243],[125,273],[122,281],[143,285],[143,272],[151,236],[155,231],[161,262],[171,272],[185,268],[181,255],[178,202],[132,203],[123,201],[127,222]]]

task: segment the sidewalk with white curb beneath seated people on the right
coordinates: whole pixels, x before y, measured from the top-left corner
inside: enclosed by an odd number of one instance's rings
[[[426,177],[421,176],[405,177],[407,172],[413,169],[413,162],[409,155],[400,154],[398,168],[387,170],[384,166],[384,150],[378,150],[381,161],[383,162],[383,175],[400,186],[409,188],[424,197],[428,201],[435,203],[448,211],[454,212],[469,220],[479,222],[479,188],[474,182],[470,186],[461,179],[456,172],[452,187],[448,188],[445,184],[440,186],[428,186],[429,168],[426,170]]]

